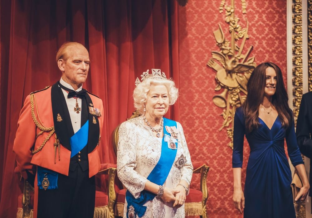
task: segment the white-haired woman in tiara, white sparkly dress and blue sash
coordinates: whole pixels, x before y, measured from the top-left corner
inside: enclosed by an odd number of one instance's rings
[[[185,217],[193,166],[181,124],[163,117],[178,89],[160,69],[141,77],[133,98],[143,115],[119,127],[117,173],[127,188],[124,217]]]

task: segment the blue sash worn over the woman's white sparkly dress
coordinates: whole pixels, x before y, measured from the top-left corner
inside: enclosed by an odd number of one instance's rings
[[[163,133],[164,135],[170,135],[165,126],[175,126],[177,127],[177,122],[173,120],[169,120],[167,118],[163,118]],[[170,169],[173,165],[174,159],[177,155],[178,149],[170,149],[168,148],[168,143],[162,139],[161,145],[161,155],[158,160],[158,163],[155,165],[152,172],[149,174],[147,179],[150,182],[153,182],[157,185],[163,185],[168,177]],[[175,143],[178,148],[178,143]],[[147,201],[153,200],[156,195],[152,192],[148,192],[143,190],[139,198],[134,198],[133,195],[127,190],[126,191],[126,200],[127,200],[127,218],[129,207],[132,205],[134,207],[135,214],[139,217],[142,217],[145,214],[146,206],[143,206]]]

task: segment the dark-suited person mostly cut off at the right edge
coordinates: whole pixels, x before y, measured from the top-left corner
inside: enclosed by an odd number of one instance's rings
[[[300,152],[312,158],[312,92],[302,96],[296,126],[296,136]],[[312,197],[312,161],[310,161],[310,193]]]

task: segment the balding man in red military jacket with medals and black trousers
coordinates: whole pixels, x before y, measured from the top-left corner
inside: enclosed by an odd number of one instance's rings
[[[103,103],[82,89],[90,67],[83,45],[64,43],[56,61],[61,79],[26,97],[13,151],[22,177],[34,181],[34,217],[93,217]]]

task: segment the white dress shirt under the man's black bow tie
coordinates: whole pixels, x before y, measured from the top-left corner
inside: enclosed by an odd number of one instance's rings
[[[82,86],[80,86],[77,90],[75,90],[70,84],[66,83],[62,78],[60,79],[60,83],[65,86],[66,88],[69,88],[71,90],[74,90],[76,92],[79,92],[82,90]],[[76,133],[80,127],[81,127],[81,111],[80,113],[76,113],[75,108],[76,108],[76,98],[67,98],[68,92],[64,89],[62,89],[62,92],[64,94],[67,108],[69,111],[69,115],[71,117],[71,125],[73,126],[74,133]],[[77,97],[77,102],[79,107],[81,108],[81,98]]]

